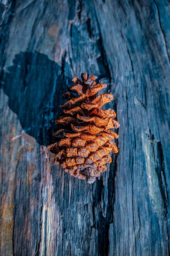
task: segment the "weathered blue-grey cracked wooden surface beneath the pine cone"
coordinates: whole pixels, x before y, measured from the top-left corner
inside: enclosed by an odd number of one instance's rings
[[[168,0],[0,1],[0,256],[170,254]],[[119,155],[94,184],[54,166],[54,120],[88,72]]]

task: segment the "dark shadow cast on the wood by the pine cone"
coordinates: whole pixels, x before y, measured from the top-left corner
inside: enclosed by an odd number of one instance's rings
[[[45,54],[21,52],[2,77],[9,108],[17,114],[22,128],[40,145],[50,144],[63,101],[63,84],[70,83],[62,67]]]

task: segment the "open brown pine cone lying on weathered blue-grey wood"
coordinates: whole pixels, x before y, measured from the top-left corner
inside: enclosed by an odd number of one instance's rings
[[[62,106],[63,113],[55,123],[61,129],[54,132],[57,142],[48,146],[56,151],[55,164],[63,167],[70,175],[93,183],[96,177],[107,170],[105,164],[111,162],[109,153],[118,153],[114,139],[118,134],[110,129],[118,128],[114,110],[100,109],[113,100],[112,94],[98,91],[106,84],[97,84],[96,76],[81,74],[82,81],[76,77],[76,85],[63,94],[68,99]]]

